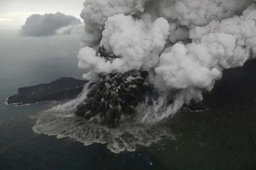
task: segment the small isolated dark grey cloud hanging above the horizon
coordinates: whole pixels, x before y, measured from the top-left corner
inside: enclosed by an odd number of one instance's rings
[[[77,32],[81,27],[81,20],[61,12],[55,14],[33,14],[30,15],[19,34],[25,37],[48,37],[57,34],[71,34],[73,29]]]

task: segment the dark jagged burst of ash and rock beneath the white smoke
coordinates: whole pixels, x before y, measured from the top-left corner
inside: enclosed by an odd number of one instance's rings
[[[135,114],[148,84],[141,75],[115,73],[99,75],[97,82],[75,114],[87,120],[116,127],[125,121],[125,115]],[[93,118],[93,119],[91,119]]]

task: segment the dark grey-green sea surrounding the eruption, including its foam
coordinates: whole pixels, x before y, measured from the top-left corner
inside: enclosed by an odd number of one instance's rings
[[[82,79],[79,46],[79,35],[0,34],[0,170],[256,169],[256,60],[224,71],[208,110],[153,126],[81,124],[74,100],[6,104],[20,87]]]

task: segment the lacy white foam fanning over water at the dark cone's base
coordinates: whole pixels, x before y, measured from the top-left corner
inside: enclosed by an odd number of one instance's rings
[[[82,123],[74,114],[60,112],[43,112],[32,129],[38,134],[70,137],[86,146],[107,143],[107,148],[114,153],[135,151],[137,145],[150,146],[163,138],[175,139],[166,127],[142,126],[135,121],[126,121],[113,129],[88,121]]]

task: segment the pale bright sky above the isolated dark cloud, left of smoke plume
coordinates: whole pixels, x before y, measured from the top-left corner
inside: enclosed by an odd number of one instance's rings
[[[20,28],[32,14],[62,12],[79,17],[85,0],[0,0],[0,29]],[[79,17],[80,18],[80,17]]]

